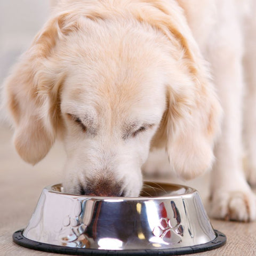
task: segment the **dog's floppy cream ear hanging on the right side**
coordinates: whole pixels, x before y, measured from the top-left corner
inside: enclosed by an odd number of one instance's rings
[[[182,85],[181,91],[167,87],[167,109],[152,142],[153,146],[162,143],[172,169],[183,179],[195,178],[212,166],[221,116],[209,83],[194,90],[189,86],[195,85]]]

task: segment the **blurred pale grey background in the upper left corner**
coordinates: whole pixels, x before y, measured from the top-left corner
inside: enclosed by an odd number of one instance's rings
[[[49,0],[0,0],[0,85],[50,13]],[[0,112],[3,120],[4,110]]]

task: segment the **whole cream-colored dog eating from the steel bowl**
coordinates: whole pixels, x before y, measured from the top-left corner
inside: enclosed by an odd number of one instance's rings
[[[240,2],[60,1],[5,84],[20,156],[36,164],[58,135],[65,191],[138,196],[150,149],[165,148],[170,169],[190,179],[211,168],[219,138],[211,214],[256,219],[242,170],[241,26],[249,3]],[[254,94],[247,114],[255,122]],[[246,127],[254,171],[255,133]]]

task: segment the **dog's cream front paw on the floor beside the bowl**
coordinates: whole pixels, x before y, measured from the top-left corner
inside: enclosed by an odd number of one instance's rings
[[[256,196],[251,190],[215,192],[207,205],[209,216],[215,219],[254,221]]]

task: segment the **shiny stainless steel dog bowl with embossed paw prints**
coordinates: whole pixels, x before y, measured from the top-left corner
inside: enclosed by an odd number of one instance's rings
[[[140,197],[97,197],[43,189],[15,243],[68,254],[183,254],[215,249],[226,236],[213,230],[198,192],[146,182]]]

